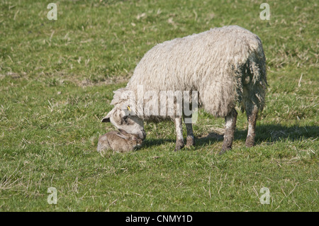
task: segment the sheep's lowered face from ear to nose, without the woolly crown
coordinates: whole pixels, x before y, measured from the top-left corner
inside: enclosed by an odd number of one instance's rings
[[[125,113],[125,109],[121,109],[117,106],[102,119],[102,122],[111,122],[116,128],[138,135],[142,140],[146,137],[142,119],[136,115]]]

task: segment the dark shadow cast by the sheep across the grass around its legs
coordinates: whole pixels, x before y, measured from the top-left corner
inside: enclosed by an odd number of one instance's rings
[[[196,133],[196,131],[194,131]],[[245,142],[247,137],[247,130],[235,130],[235,140],[242,140]],[[280,140],[305,140],[308,138],[316,139],[319,137],[319,126],[316,125],[257,125],[255,144],[262,142],[278,142]],[[213,130],[208,135],[197,135],[195,138],[195,147],[211,145],[212,142],[223,141],[223,129]],[[146,139],[143,142],[143,147],[152,147],[162,145],[166,142],[175,142],[174,139]]]

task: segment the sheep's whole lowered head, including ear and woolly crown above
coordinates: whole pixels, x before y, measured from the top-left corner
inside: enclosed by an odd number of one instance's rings
[[[116,128],[124,130],[130,134],[135,134],[144,140],[146,132],[144,130],[144,123],[137,115],[130,113],[131,109],[128,105],[128,98],[123,95],[125,89],[118,89],[114,92],[113,101],[111,104],[114,108],[103,119],[103,123],[112,123]]]

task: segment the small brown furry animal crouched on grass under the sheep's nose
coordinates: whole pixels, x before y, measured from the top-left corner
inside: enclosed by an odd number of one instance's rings
[[[115,152],[130,152],[135,147],[142,146],[142,139],[138,135],[124,130],[107,132],[99,137],[97,151],[113,150]]]

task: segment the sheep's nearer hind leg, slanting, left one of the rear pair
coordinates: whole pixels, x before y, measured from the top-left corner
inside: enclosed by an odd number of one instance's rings
[[[219,154],[223,154],[227,150],[232,149],[235,128],[236,128],[236,120],[237,120],[237,111],[233,109],[225,117],[224,141],[223,141],[222,150],[219,152]]]

